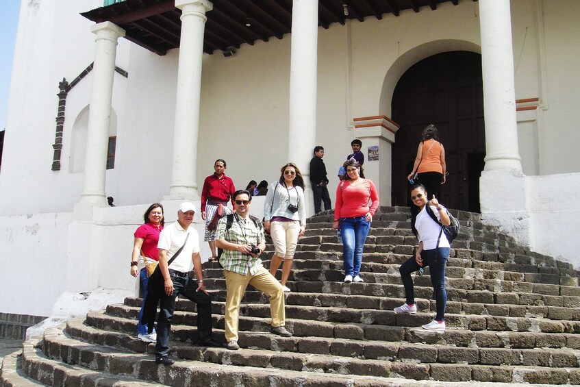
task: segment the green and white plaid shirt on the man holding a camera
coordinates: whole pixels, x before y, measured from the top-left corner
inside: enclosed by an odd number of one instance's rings
[[[262,242],[266,242],[262,223],[257,221],[257,224],[260,227],[256,227],[249,216],[244,219],[238,214],[234,214],[234,221],[231,223],[231,228],[226,231],[227,216],[224,216],[218,221],[216,240],[223,239],[230,243],[236,243],[237,245],[257,246]],[[262,269],[262,260],[260,258],[240,253],[237,250],[224,249],[220,257],[220,264],[224,270],[233,271],[240,275],[248,275],[248,271],[251,275],[254,275],[258,270]]]

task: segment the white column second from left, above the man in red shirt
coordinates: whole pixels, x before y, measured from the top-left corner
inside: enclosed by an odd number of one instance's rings
[[[199,199],[197,192],[197,137],[201,93],[203,32],[213,4],[207,0],[175,0],[181,10],[181,43],[177,70],[177,100],[173,131],[171,186],[165,200]]]

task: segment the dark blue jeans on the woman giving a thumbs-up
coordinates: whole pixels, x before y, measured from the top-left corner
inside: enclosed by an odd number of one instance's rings
[[[443,321],[445,310],[447,308],[447,292],[445,290],[445,266],[447,258],[449,258],[449,247],[440,247],[438,249],[421,251],[421,258],[423,258],[423,267],[429,266],[429,276],[431,277],[431,286],[435,291],[435,301],[437,305],[436,321]],[[415,303],[415,290],[411,273],[419,270],[419,266],[415,260],[415,255],[403,262],[399,273],[403,280],[405,287],[406,303],[412,305]]]

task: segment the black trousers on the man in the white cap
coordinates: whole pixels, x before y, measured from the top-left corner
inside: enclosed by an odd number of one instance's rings
[[[173,295],[163,294],[160,299],[160,311],[157,317],[157,343],[155,355],[165,356],[169,353],[169,332],[171,332],[171,319],[175,312],[177,295],[193,301],[197,305],[197,338],[204,341],[212,337],[212,299],[201,290],[196,292],[197,281],[187,274],[184,276],[171,275],[173,281]]]

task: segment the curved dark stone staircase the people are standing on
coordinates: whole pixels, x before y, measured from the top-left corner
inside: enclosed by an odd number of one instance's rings
[[[241,349],[197,347],[195,306],[179,300],[171,337],[177,362],[163,366],[155,364],[154,345],[135,337],[141,301],[127,298],[27,340],[4,359],[0,386],[579,385],[579,272],[519,247],[479,214],[454,214],[462,230],[446,273],[444,333],[420,328],[435,311],[428,269],[415,277],[419,312],[392,311],[404,302],[399,265],[416,245],[407,208],[377,212],[364,249],[365,282],[356,284],[342,282],[342,245],[331,212],[323,212],[308,219],[294,259],[286,295],[291,338],[268,333],[268,300],[249,287]],[[214,262],[204,270],[214,338],[223,340],[223,271]]]

